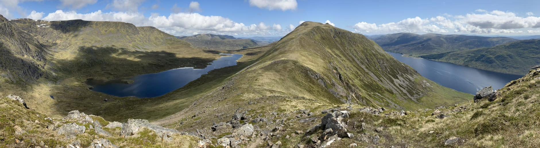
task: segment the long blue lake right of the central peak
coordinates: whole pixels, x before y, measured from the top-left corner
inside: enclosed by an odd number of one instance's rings
[[[402,54],[399,53],[388,52],[388,54],[404,64],[413,67],[427,79],[437,82],[444,87],[468,94],[476,94],[478,90],[488,86],[493,86],[494,89],[500,89],[506,83],[523,77],[522,75],[484,71],[447,62],[402,57]]]

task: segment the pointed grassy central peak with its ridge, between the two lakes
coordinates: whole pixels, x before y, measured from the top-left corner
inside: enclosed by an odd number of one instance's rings
[[[266,53],[186,109],[157,124],[179,130],[227,122],[234,112],[255,115],[336,104],[419,109],[464,102],[471,96],[444,88],[393,59],[360,34],[306,22]],[[265,116],[265,115],[263,115]]]

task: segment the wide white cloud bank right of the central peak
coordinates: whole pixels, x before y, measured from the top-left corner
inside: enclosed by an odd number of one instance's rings
[[[527,29],[540,28],[540,17],[519,17],[509,11],[476,10],[481,13],[444,15],[431,18],[407,18],[399,22],[375,24],[359,22],[353,26],[359,33],[531,33]]]

